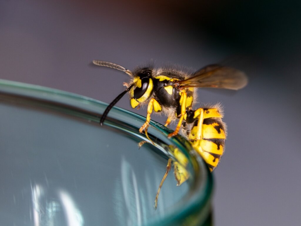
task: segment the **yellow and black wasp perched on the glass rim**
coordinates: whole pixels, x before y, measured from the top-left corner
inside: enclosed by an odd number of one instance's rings
[[[194,73],[188,73],[172,67],[138,67],[134,71],[130,71],[107,61],[94,60],[93,63],[123,71],[130,77],[129,83],[124,83],[127,88],[107,106],[100,119],[101,125],[110,109],[126,93],[129,93],[132,108],[147,105],[146,121],[139,129],[140,133],[144,131],[149,139],[147,128],[151,114],[153,111],[163,113],[167,116],[165,126],[178,120],[174,132],[170,133],[168,137],[181,133],[205,160],[209,170],[213,171],[216,168],[224,152],[226,139],[226,125],[222,121],[222,108],[219,105],[193,108],[197,99],[196,89],[199,87],[241,89],[247,84],[247,76],[244,72],[218,64],[208,65]],[[174,161],[175,178],[177,185],[181,185],[189,176],[185,170],[187,163],[185,157],[181,156],[176,148],[172,148],[172,151],[176,159]],[[156,194],[155,208],[157,208],[160,189],[171,165],[172,159],[169,159],[166,173]]]

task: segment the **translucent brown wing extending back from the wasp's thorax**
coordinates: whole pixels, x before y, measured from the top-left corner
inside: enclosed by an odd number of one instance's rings
[[[186,80],[177,81],[177,85],[182,88],[212,87],[237,90],[246,86],[247,81],[244,72],[213,64],[196,71],[192,77]]]

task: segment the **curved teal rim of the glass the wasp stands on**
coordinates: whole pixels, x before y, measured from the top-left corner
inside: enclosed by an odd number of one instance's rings
[[[73,107],[75,106],[77,108],[95,111],[94,117],[89,117],[89,120],[95,122],[99,121],[99,116],[101,116],[102,113],[97,112],[98,108],[102,107],[105,109],[107,106],[107,104],[104,102],[78,94],[44,86],[2,79],[0,79],[0,93],[10,93],[18,96],[32,97],[41,101],[51,101],[61,104],[68,103],[67,105],[71,105]],[[127,111],[123,108],[113,107],[111,112],[115,115],[127,115],[129,117],[137,118],[139,121],[145,121],[145,117]],[[83,117],[83,115],[74,116]],[[115,127],[114,123],[110,121],[105,121],[104,124],[110,127]],[[141,125],[142,124],[140,123],[140,126]],[[120,127],[118,129],[120,129]],[[156,130],[157,132],[163,134],[166,138],[167,135],[172,131],[155,121],[151,121],[150,123],[148,130],[149,134],[152,134],[152,130]],[[133,133],[129,130],[126,132]],[[138,133],[138,130],[135,135],[141,138],[141,140],[146,140],[146,137]],[[150,222],[147,225],[200,225],[200,223],[201,225],[207,225],[207,223],[205,224],[205,221],[207,222],[208,215],[211,211],[210,199],[213,190],[212,174],[209,172],[209,169],[206,167],[206,163],[203,161],[203,159],[200,158],[199,155],[195,154],[191,144],[184,137],[177,135],[168,140],[175,144],[175,146],[177,146],[186,155],[189,161],[193,163],[195,175],[193,175],[194,180],[192,181],[193,185],[191,186],[192,195],[189,198],[187,197],[188,200],[185,202],[184,206],[182,205],[181,208],[178,208],[175,212],[172,212],[169,215],[164,215],[164,217],[160,219],[155,219],[153,222]]]

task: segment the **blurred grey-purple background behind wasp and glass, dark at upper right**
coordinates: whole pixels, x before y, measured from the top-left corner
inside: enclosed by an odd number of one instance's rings
[[[300,225],[301,3],[299,1],[0,2],[1,79],[111,102],[128,69],[150,62],[195,70],[227,62],[245,71],[238,92],[199,90],[221,102],[225,155],[214,171],[215,225]],[[117,104],[132,110],[127,96]],[[152,119],[163,123],[166,118]]]

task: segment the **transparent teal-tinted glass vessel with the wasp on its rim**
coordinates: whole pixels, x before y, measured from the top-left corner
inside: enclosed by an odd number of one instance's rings
[[[212,176],[181,136],[107,104],[64,91],[0,80],[0,225],[209,225]],[[185,156],[154,199],[167,159]]]

